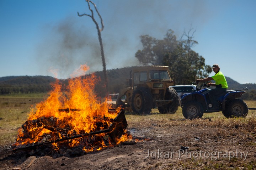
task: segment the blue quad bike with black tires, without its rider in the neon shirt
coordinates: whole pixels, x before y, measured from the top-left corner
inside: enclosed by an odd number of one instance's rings
[[[248,90],[247,88],[227,90],[224,96],[218,98],[218,108],[213,108],[208,95],[210,89],[207,87],[207,84],[201,84],[200,88],[198,88],[197,83],[196,90],[181,96],[182,114],[186,119],[202,118],[204,113],[220,111],[226,118],[246,117],[249,109],[255,109],[248,108],[243,100],[238,99],[246,93],[245,90]]]

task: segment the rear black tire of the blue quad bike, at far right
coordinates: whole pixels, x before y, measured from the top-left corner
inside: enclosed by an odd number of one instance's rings
[[[226,103],[222,113],[226,118],[246,117],[248,114],[248,106],[241,99],[234,99]]]

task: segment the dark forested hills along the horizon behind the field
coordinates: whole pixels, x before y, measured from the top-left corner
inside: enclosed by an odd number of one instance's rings
[[[137,66],[134,66],[137,67]],[[120,89],[127,87],[128,79],[130,78],[130,71],[134,67],[125,67],[118,69],[107,70],[108,86],[110,93],[118,93]],[[101,93],[103,89],[104,75],[102,71],[94,73],[97,77],[101,78],[99,84],[96,85],[96,92]],[[85,75],[84,77],[86,77]],[[230,89],[242,89],[247,87],[250,90],[256,90],[256,84],[240,84],[233,79],[226,77]],[[0,78],[0,94],[12,93],[38,93],[48,92],[52,90],[50,83],[54,82],[55,78],[50,76],[9,76]],[[60,80],[67,83],[67,79]]]

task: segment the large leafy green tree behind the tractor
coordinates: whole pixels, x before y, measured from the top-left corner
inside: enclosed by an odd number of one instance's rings
[[[143,50],[138,50],[135,57],[143,65],[169,66],[171,78],[175,84],[191,84],[197,78],[204,78],[212,72],[205,59],[191,47],[198,44],[190,31],[184,36],[188,40],[176,40],[174,31],[168,30],[163,40],[156,40],[149,35],[140,36]],[[182,36],[183,37],[183,36]]]

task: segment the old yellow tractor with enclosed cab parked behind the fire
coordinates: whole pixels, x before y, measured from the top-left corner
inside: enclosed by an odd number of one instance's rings
[[[168,66],[136,67],[130,71],[128,87],[119,92],[116,106],[132,108],[133,112],[148,114],[152,108],[160,113],[175,113],[179,106],[172,87]]]

